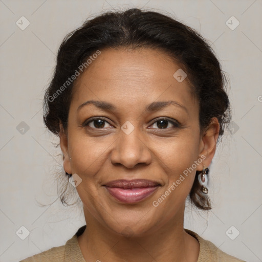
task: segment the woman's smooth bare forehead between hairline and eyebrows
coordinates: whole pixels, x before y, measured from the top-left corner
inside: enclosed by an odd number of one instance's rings
[[[161,50],[104,49],[77,79],[72,103],[95,99],[139,106],[176,100],[195,110],[187,77],[178,81],[173,76],[180,71],[181,66]]]

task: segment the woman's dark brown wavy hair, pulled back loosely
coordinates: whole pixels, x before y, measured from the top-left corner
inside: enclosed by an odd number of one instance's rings
[[[220,137],[230,121],[229,99],[225,92],[226,77],[219,60],[207,41],[195,30],[167,15],[137,8],[106,12],[85,23],[63,39],[58,50],[55,72],[43,102],[43,119],[47,128],[59,134],[59,122],[67,130],[68,113],[75,81],[64,85],[79,66],[97,50],[105,48],[154,48],[179,62],[190,81],[200,106],[201,131],[216,117]],[[61,89],[61,86],[64,88]],[[62,90],[62,92],[59,91]],[[54,95],[56,94],[56,95]],[[189,194],[200,209],[211,209],[210,200],[201,191],[197,171]],[[60,200],[67,204],[65,190]]]

